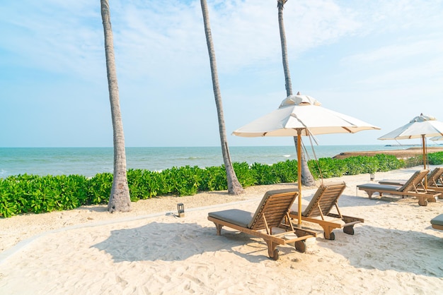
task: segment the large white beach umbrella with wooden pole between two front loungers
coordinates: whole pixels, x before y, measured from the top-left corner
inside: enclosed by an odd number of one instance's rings
[[[372,124],[321,107],[308,95],[291,95],[269,114],[236,129],[232,134],[243,137],[310,136],[329,133],[356,133],[380,129]],[[297,140],[299,224],[301,224],[301,140]]]

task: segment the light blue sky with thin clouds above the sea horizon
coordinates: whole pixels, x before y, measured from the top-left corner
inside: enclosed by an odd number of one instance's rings
[[[277,1],[207,2],[229,145],[292,145],[231,136],[286,97]],[[219,145],[200,1],[110,7],[126,145]],[[420,113],[443,121],[442,15],[442,0],[287,2],[294,93],[381,128],[320,145],[395,144],[376,138]],[[0,147],[113,145],[99,0],[0,0],[0,35]]]

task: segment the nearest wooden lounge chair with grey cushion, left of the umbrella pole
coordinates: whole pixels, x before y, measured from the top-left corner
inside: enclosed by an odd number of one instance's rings
[[[294,243],[297,251],[303,253],[306,251],[306,239],[316,236],[314,231],[294,229],[289,220],[289,208],[297,195],[294,189],[268,191],[255,213],[231,209],[209,212],[207,219],[214,222],[218,236],[222,227],[226,226],[264,239],[269,257],[277,260],[277,245]],[[289,234],[296,237],[287,239]]]

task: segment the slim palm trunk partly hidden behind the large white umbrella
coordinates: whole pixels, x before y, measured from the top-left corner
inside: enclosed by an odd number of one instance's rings
[[[284,81],[286,87],[286,95],[292,95],[292,83],[291,83],[291,74],[289,73],[289,61],[287,58],[287,45],[286,45],[286,33],[284,32],[284,23],[283,23],[283,6],[287,2],[287,0],[277,0],[277,8],[278,8],[278,24],[280,28],[280,42],[282,43],[282,57],[283,57],[283,70],[284,70]],[[297,93],[299,95],[299,93]],[[297,136],[294,136],[294,143],[297,147]],[[297,148],[296,148],[297,150]],[[304,186],[314,186],[315,181],[309,171],[308,163],[306,162],[306,157],[304,155],[303,149],[300,150],[301,157],[301,183]]]

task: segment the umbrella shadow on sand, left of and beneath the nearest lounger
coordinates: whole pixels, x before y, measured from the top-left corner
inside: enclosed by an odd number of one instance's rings
[[[251,251],[236,251],[236,247],[243,245],[248,245]],[[215,227],[202,227],[196,223],[151,222],[134,229],[118,229],[112,231],[108,239],[92,247],[109,253],[116,263],[185,260],[211,251],[229,251],[251,263],[269,259],[263,239],[232,229],[223,230],[222,236],[217,236]],[[258,254],[262,251],[263,255]]]

